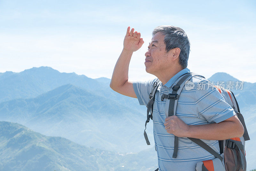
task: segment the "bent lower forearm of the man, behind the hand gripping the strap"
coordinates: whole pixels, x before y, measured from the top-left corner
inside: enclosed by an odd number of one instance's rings
[[[189,125],[187,137],[205,140],[225,140],[241,137],[243,132],[244,128],[239,123],[222,121],[206,125]]]

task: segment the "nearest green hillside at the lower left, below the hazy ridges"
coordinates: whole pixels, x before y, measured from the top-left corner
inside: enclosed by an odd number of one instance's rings
[[[153,150],[130,154],[103,151],[5,121],[0,122],[0,147],[1,171],[152,170],[157,166]],[[146,153],[153,155],[142,158]]]

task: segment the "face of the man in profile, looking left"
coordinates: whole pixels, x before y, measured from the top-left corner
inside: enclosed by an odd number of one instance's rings
[[[165,52],[164,35],[157,32],[148,45],[148,51],[145,53],[146,72],[157,75],[169,67],[171,60],[168,59],[168,53]],[[149,61],[147,61],[149,60]]]

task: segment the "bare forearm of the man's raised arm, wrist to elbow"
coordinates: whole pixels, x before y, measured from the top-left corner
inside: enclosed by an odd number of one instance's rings
[[[110,82],[110,87],[112,89],[115,89],[115,87],[122,86],[128,80],[128,70],[131,57],[132,52],[123,49],[116,62],[116,66],[112,74]]]

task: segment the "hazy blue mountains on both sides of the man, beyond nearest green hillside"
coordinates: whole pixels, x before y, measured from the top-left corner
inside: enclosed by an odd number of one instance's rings
[[[227,73],[216,73],[208,80],[240,82]],[[146,107],[139,105],[135,98],[116,93],[109,83],[108,78],[91,79],[75,73],[60,73],[51,67],[0,73],[0,120],[17,122],[40,134],[61,136],[104,151],[146,150],[156,154],[152,145],[146,145],[143,136]],[[244,82],[242,90],[231,91],[251,138],[245,150],[247,168],[252,169],[256,167],[253,162],[256,157],[256,83]],[[152,129],[152,122],[149,122],[150,142],[154,141]],[[140,154],[147,160],[146,153]],[[157,164],[157,160],[154,162]]]

